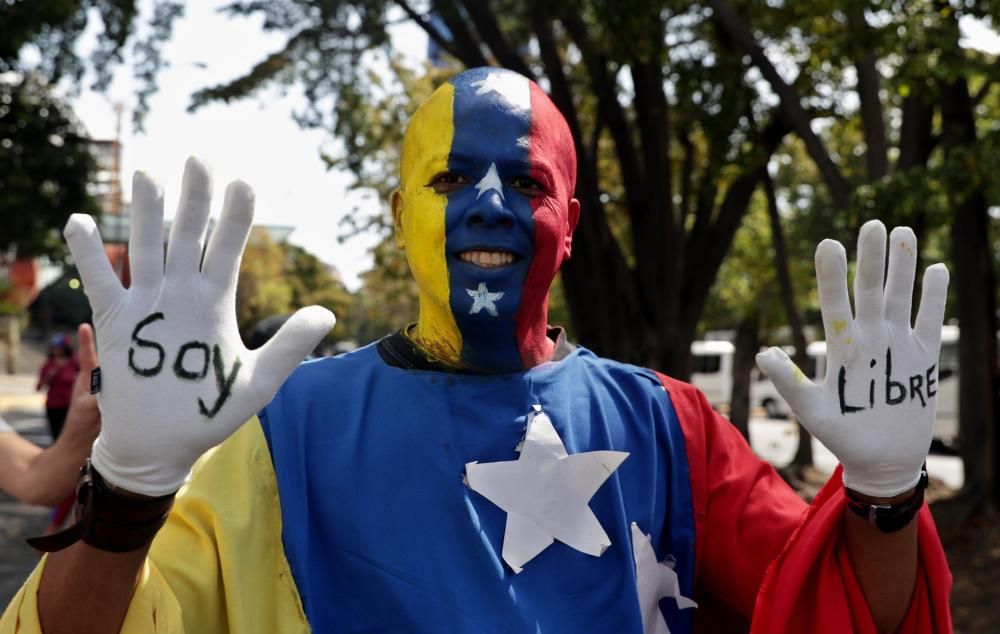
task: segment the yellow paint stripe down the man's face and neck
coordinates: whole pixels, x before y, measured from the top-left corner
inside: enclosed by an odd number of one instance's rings
[[[448,199],[428,187],[434,176],[448,169],[448,154],[455,134],[454,97],[454,87],[444,84],[413,115],[403,139],[401,209],[394,211],[397,235],[406,249],[406,260],[420,295],[420,316],[413,337],[436,359],[457,364],[462,335],[448,297],[445,257]]]

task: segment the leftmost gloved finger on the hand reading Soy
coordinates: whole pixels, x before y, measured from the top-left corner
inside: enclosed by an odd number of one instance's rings
[[[73,214],[66,222],[63,235],[83,278],[83,290],[94,314],[110,310],[121,299],[125,289],[111,270],[111,262],[104,252],[104,243],[94,219],[86,214]]]

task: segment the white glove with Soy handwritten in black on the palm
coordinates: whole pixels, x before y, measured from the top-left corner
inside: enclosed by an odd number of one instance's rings
[[[325,308],[304,308],[259,350],[236,326],[236,279],[253,220],[253,190],[226,189],[222,217],[200,267],[212,180],[189,159],[163,258],[163,192],[136,173],[129,258],[122,288],[90,216],[65,236],[94,311],[103,425],[92,460],[112,484],[145,495],[173,493],[195,460],[263,407],[333,327]]]

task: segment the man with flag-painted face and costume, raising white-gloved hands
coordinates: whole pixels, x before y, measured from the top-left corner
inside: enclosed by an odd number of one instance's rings
[[[127,291],[74,217],[104,423],[81,522],[35,542],[52,552],[0,632],[948,631],[921,508],[947,271],[928,269],[911,327],[912,232],[893,231],[883,286],[885,229],[862,229],[856,311],[843,247],[817,249],[830,379],[758,359],[842,461],[807,507],[692,387],[548,327],[574,157],[527,79],[438,89],[392,198],[417,322],[297,368],[326,311],[259,351],[236,334],[248,187],[199,270],[205,167],[188,164],[165,266],[162,193],[137,175]]]

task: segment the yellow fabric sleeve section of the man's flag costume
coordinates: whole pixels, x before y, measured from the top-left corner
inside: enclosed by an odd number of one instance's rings
[[[0,634],[41,633],[35,568]],[[195,464],[156,536],[123,634],[309,632],[281,544],[270,452],[253,418]]]

